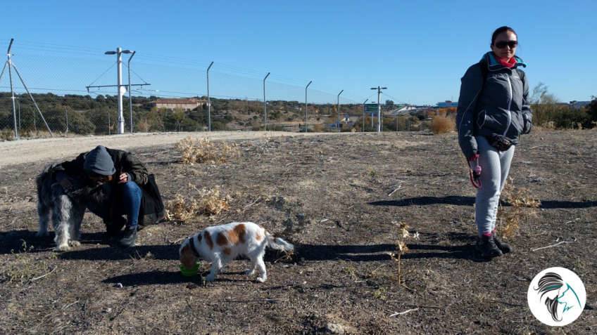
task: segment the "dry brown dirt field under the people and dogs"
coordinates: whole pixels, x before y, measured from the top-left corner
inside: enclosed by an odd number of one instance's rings
[[[192,166],[173,150],[180,138],[146,139],[140,142],[149,146],[130,146],[128,138],[105,143],[141,157],[165,200],[218,187],[232,198],[230,210],[149,226],[132,249],[108,245],[101,221],[87,214],[82,245],[58,254],[51,237],[34,237],[34,177],[50,155],[74,157],[79,145],[96,143],[86,138],[66,152],[56,140],[40,146],[36,159],[23,157],[29,151],[18,158],[4,154],[0,333],[597,332],[597,131],[522,138],[510,176],[541,207],[522,209],[529,215],[508,239],[515,252],[491,262],[472,247],[475,191],[455,134],[244,138],[234,140],[239,157]],[[511,209],[505,204],[501,210]],[[263,225],[294,243],[294,256],[268,252],[263,284],[241,274],[244,260],[233,261],[206,287],[182,277],[175,241],[230,221]],[[418,238],[403,239],[397,222]],[[398,262],[389,256],[399,239],[409,249],[400,282]],[[562,241],[570,243],[534,251]],[[577,273],[587,293],[584,313],[562,328],[541,324],[527,307],[529,282],[552,266]]]

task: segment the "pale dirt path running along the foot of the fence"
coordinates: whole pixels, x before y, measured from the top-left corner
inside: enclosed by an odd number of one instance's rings
[[[188,136],[193,138],[210,138],[211,140],[249,140],[267,137],[313,135],[320,136],[322,134],[289,133],[285,131],[218,131],[215,133],[135,133],[133,135],[14,140],[0,142],[0,167],[11,164],[38,162],[40,160],[58,160],[91,150],[96,145],[130,150],[134,147],[169,145]]]

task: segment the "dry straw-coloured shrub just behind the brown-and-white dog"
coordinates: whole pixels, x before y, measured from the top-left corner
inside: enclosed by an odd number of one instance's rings
[[[193,187],[194,188],[194,187]],[[230,209],[232,197],[222,197],[219,188],[201,190],[194,188],[196,195],[185,199],[180,194],[166,204],[166,217],[169,221],[187,221],[194,216],[215,216]]]

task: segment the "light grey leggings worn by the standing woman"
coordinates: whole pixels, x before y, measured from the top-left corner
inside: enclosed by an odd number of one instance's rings
[[[489,235],[496,228],[496,216],[500,194],[508,178],[515,146],[507,151],[498,151],[484,136],[477,136],[479,165],[481,166],[481,188],[475,199],[475,223],[480,235]]]

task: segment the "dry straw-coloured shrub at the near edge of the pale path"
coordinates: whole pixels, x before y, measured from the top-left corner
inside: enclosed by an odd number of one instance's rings
[[[191,165],[195,163],[221,164],[227,162],[227,159],[240,155],[236,143],[222,142],[216,145],[208,138],[194,140],[187,137],[176,143],[175,149],[181,153],[182,163]]]

